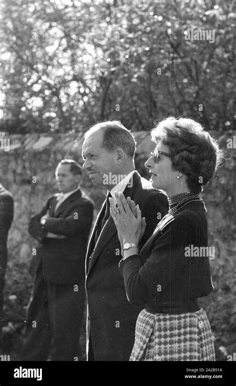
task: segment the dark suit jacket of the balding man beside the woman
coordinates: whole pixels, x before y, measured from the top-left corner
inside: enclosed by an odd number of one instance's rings
[[[166,195],[153,189],[151,183],[133,175],[132,187],[126,187],[124,196],[130,196],[146,218],[142,246],[168,210]],[[96,361],[128,361],[134,343],[135,323],[143,308],[132,306],[127,300],[124,283],[118,272],[121,259],[117,228],[110,216],[96,246],[94,237],[105,212],[103,205],[94,226],[86,256],[86,290],[88,297],[88,337],[92,336]],[[158,218],[157,218],[158,217]],[[95,249],[94,249],[95,247]],[[87,342],[88,345],[88,342]]]

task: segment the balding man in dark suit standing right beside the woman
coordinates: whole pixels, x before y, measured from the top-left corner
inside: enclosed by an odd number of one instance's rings
[[[115,191],[122,192],[139,205],[147,224],[139,247],[168,210],[166,195],[153,189],[151,183],[135,171],[134,153],[134,138],[118,121],[99,123],[85,134],[83,168],[95,186],[107,190],[86,256],[88,361],[128,361],[136,319],[143,308],[143,305],[129,304],[118,272],[121,251],[117,228],[110,215],[109,196],[115,197]]]

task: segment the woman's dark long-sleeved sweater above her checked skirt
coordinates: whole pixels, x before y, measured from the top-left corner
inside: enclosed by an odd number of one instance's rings
[[[167,215],[158,228],[139,255],[120,264],[130,303],[143,302],[147,310],[155,310],[159,302],[187,306],[191,299],[207,296],[213,290],[209,256],[205,248],[197,254],[208,245],[204,203],[190,202],[174,216]],[[196,255],[186,252],[191,245],[197,247]]]

